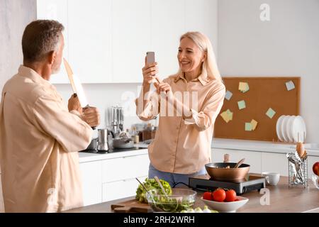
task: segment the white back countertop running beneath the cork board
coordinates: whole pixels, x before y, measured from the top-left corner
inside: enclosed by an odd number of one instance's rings
[[[293,143],[213,138],[211,148],[286,154],[295,152],[296,145]],[[305,143],[304,148],[308,155],[319,156],[319,145],[317,143]]]

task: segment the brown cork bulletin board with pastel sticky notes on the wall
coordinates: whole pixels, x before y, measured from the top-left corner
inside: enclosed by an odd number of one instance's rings
[[[218,115],[214,138],[278,141],[278,118],[281,115],[299,114],[300,77],[223,77],[223,82],[226,91],[230,91],[232,96],[224,100],[220,114],[229,110],[233,118],[226,123]],[[249,85],[247,92],[239,90],[240,82]],[[286,87],[287,82],[293,82],[294,88]],[[245,108],[238,105],[238,101],[245,101]],[[275,112],[272,118],[266,114],[269,108]],[[252,122],[252,119],[257,121],[257,126],[254,130],[246,131],[246,123]]]

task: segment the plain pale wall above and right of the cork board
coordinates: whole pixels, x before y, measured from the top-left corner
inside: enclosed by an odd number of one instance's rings
[[[218,1],[218,63],[223,76],[300,76],[307,142],[319,143],[318,0]]]

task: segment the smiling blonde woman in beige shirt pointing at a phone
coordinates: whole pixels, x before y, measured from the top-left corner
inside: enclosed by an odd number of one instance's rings
[[[159,114],[155,140],[149,145],[149,177],[171,186],[206,173],[211,162],[213,126],[225,96],[210,40],[198,32],[181,35],[177,54],[179,72],[163,82],[157,62],[142,68],[143,83],[137,114],[143,121]],[[156,79],[156,81],[155,81]],[[157,92],[150,94],[155,82]]]

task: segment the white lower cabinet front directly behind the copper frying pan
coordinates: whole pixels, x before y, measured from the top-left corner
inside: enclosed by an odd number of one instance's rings
[[[262,154],[254,151],[246,150],[228,150],[212,148],[212,162],[223,162],[224,155],[230,155],[230,162],[238,162],[242,158],[245,158],[245,163],[250,165],[250,172],[261,173],[262,172]]]

